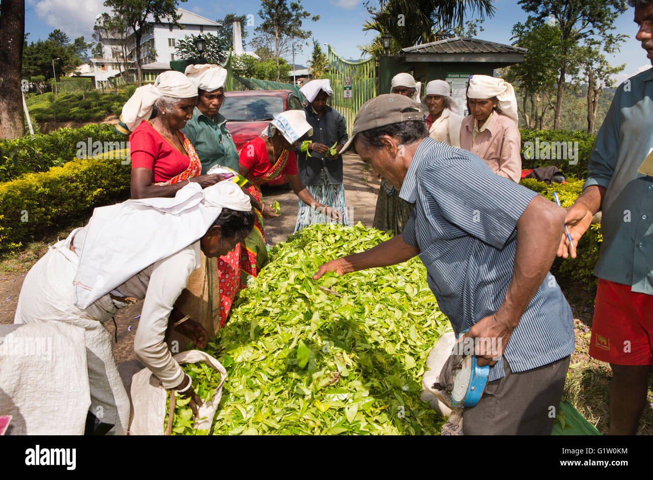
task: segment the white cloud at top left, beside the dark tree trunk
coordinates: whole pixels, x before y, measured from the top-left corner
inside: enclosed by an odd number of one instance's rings
[[[97,16],[109,10],[104,7],[104,0],[28,0],[34,5],[39,19],[52,29],[61,29],[71,37],[81,37],[88,42],[92,40],[93,25]]]

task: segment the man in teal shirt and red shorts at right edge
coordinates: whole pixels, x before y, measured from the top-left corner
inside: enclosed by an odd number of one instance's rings
[[[635,7],[635,38],[653,64],[653,1]],[[603,242],[594,274],[599,278],[590,356],[609,362],[610,433],[634,435],[646,402],[653,364],[653,176],[639,172],[653,148],[653,69],[631,76],[613,103],[590,153],[581,196],[567,209],[573,247],[563,239],[558,256],[576,257],[575,246],[601,210]]]

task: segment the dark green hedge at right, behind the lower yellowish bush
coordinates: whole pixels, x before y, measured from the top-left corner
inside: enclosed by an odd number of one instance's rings
[[[586,176],[590,152],[596,136],[580,130],[519,129],[519,131],[522,135],[522,168],[524,170],[555,165],[568,176],[572,175],[577,178]],[[552,144],[552,142],[556,143]],[[568,142],[571,142],[571,146],[574,148],[573,155],[569,153]],[[578,143],[576,144],[576,142]],[[564,146],[564,144],[566,145]],[[564,147],[567,147],[566,157]],[[576,148],[578,150],[575,150]]]

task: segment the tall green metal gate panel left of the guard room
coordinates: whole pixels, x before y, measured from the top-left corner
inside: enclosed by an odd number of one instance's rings
[[[351,135],[358,108],[376,96],[376,59],[347,61],[328,45],[328,79],[333,89],[331,106],[345,117]]]

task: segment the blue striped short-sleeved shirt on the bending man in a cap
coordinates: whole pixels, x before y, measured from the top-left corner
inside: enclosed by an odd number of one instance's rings
[[[499,310],[513,277],[517,221],[536,195],[467,150],[432,138],[417,148],[401,188],[415,204],[402,235],[421,250],[428,286],[456,335]],[[504,358],[524,372],[573,350],[571,308],[549,272],[488,379],[503,377]]]

